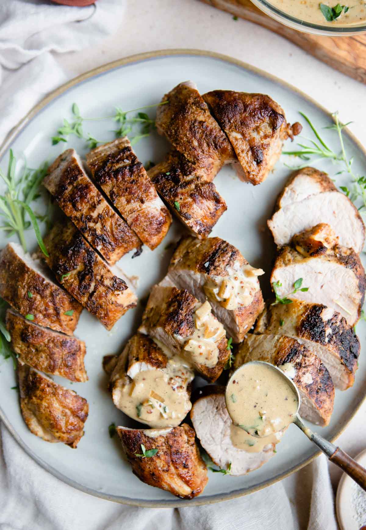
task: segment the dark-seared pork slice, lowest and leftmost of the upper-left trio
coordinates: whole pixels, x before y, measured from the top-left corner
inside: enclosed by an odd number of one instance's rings
[[[71,222],[53,226],[44,243],[46,261],[57,279],[106,329],[136,306],[136,295],[122,271],[109,268]]]

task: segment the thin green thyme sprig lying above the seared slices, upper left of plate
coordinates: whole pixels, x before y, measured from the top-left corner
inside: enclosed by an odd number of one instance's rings
[[[146,105],[138,109],[132,109],[124,111],[119,107],[115,108],[115,113],[112,116],[102,116],[100,118],[84,118],[79,110],[76,103],[72,105],[73,118],[72,121],[63,120],[63,126],[57,129],[57,135],[51,137],[52,145],[56,145],[60,142],[67,142],[70,135],[74,135],[77,138],[85,140],[88,148],[94,149],[98,144],[106,143],[108,140],[97,140],[90,133],[84,133],[84,122],[85,121],[99,121],[99,120],[113,120],[117,122],[120,127],[113,129],[113,133],[116,138],[122,136],[129,136],[131,145],[135,145],[141,138],[149,136],[152,130],[155,129],[155,120],[151,119],[146,112],[139,112],[144,109],[158,107],[164,105],[167,101],[157,103],[154,105]],[[135,116],[129,117],[128,114],[137,112]],[[136,127],[139,127],[136,130]]]

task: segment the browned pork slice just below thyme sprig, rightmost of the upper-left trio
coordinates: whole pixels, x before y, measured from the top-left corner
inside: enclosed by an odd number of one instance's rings
[[[172,217],[127,136],[95,147],[86,155],[86,162],[95,182],[128,226],[154,250],[165,237]]]

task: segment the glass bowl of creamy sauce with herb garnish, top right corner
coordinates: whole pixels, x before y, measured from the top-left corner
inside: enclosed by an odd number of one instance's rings
[[[306,33],[351,36],[366,32],[365,0],[252,0],[272,19]],[[244,3],[244,2],[243,2]]]

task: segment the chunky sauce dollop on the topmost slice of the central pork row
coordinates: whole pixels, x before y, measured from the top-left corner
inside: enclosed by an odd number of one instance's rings
[[[262,274],[262,269],[255,269],[249,263],[240,267],[240,263],[236,261],[227,270],[227,276],[211,277],[203,286],[204,293],[228,310],[245,307],[253,302],[259,289],[258,276]]]

